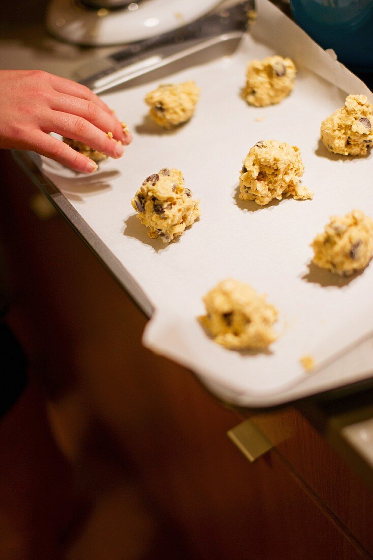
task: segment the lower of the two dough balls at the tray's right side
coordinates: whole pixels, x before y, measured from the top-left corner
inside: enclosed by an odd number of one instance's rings
[[[325,231],[315,237],[313,262],[342,276],[366,267],[373,254],[373,221],[360,210],[332,216]]]

